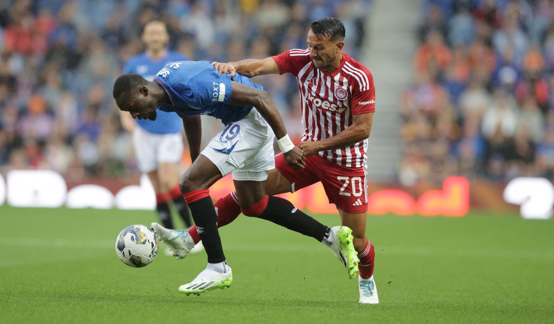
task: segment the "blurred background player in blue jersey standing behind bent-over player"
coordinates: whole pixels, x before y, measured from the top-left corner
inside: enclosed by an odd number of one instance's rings
[[[142,33],[146,52],[127,60],[123,73],[136,73],[152,80],[166,64],[186,60],[185,55],[166,49],[168,40],[165,23],[158,20],[147,23]],[[160,111],[155,121],[135,121],[126,112],[121,112],[120,116],[123,128],[133,135],[139,169],[148,174],[156,192],[156,210],[161,223],[175,228],[169,205],[173,201],[186,227],[191,227],[191,216],[177,183],[177,163],[183,153],[181,119],[175,112],[165,111]]]

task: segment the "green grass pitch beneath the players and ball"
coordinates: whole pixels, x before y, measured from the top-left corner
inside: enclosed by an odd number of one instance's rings
[[[141,269],[117,258],[117,233],[153,212],[4,205],[0,220],[0,323],[554,322],[554,220],[370,216],[379,305],[357,303],[329,248],[265,220],[220,230],[234,282],[199,297],[177,288],[204,253]]]

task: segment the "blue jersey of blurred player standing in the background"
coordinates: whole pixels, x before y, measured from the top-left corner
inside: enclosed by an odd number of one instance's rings
[[[175,61],[186,60],[187,57],[181,53],[167,51],[165,57],[157,60],[153,60],[145,53],[135,55],[130,58],[125,67],[123,73],[136,73],[142,75],[148,81],[152,81],[156,73],[160,71],[163,66]],[[137,125],[144,130],[156,133],[156,134],[172,134],[181,132],[183,128],[183,121],[175,112],[158,111],[156,120],[140,120],[137,119]]]

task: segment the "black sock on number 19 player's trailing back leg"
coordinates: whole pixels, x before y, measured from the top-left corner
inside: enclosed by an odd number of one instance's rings
[[[294,232],[311,236],[320,242],[331,233],[329,227],[296,209],[289,200],[275,196],[269,196],[268,207],[265,208],[259,218],[269,220],[282,227],[294,230]]]

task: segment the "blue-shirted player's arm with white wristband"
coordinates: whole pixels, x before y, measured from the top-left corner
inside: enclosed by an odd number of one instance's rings
[[[304,169],[304,155],[302,151],[294,146],[286,133],[285,124],[279,110],[275,106],[268,92],[251,88],[244,84],[231,81],[231,97],[229,104],[236,106],[254,106],[260,112],[261,116],[268,122],[269,126],[278,138],[277,143],[285,156],[285,161],[289,166],[295,169]]]

